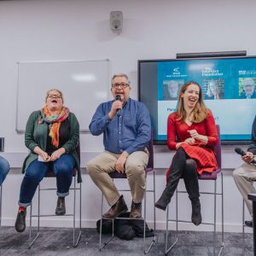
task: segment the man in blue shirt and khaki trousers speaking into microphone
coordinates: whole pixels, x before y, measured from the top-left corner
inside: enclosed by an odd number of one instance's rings
[[[142,217],[145,192],[145,167],[148,165],[148,142],[151,123],[148,108],[132,100],[131,85],[126,74],[114,75],[113,100],[102,103],[90,122],[94,136],[103,133],[105,151],[87,163],[86,169],[96,186],[102,190],[110,209],[103,218],[115,218],[128,210],[108,173],[125,172],[131,188],[131,218]],[[120,100],[117,98],[120,96]]]

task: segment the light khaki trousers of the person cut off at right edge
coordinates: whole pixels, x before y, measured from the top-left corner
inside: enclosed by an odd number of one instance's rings
[[[253,203],[248,200],[247,195],[256,193],[256,189],[253,187],[253,182],[256,181],[256,166],[243,163],[233,172],[233,177],[247,205],[248,211],[253,217]]]

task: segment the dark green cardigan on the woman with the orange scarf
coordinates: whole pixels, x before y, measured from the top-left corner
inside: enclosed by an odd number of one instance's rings
[[[79,121],[73,113],[68,114],[68,121],[70,124],[70,138],[63,145],[66,150],[66,154],[72,154],[75,160],[75,167],[78,170],[78,182],[82,182],[79,156],[76,152],[76,148],[79,145]],[[38,158],[38,154],[34,153],[34,148],[37,146],[45,151],[47,136],[48,136],[48,125],[44,120],[42,121],[41,111],[34,111],[29,116],[26,122],[25,131],[25,144],[26,148],[30,149],[30,153],[26,156],[23,162],[22,172],[26,172],[27,167],[32,163],[33,160]],[[44,136],[42,136],[42,134]]]

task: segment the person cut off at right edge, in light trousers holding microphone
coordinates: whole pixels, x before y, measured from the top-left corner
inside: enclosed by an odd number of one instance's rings
[[[253,120],[252,128],[252,139],[249,147],[247,148],[247,153],[241,157],[244,163],[237,167],[233,172],[233,177],[236,182],[236,186],[241,192],[243,200],[247,205],[247,209],[253,218],[253,203],[248,200],[248,194],[255,194],[256,189],[253,187],[253,182],[256,181],[256,166],[252,163],[253,157],[256,154],[256,116]],[[245,221],[247,226],[253,227],[253,220]]]

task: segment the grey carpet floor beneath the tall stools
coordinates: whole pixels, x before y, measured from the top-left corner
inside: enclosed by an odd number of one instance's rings
[[[171,238],[174,239],[173,233]],[[43,228],[38,241],[28,249],[28,229],[24,233],[17,233],[14,227],[0,227],[0,255],[109,255],[127,256],[143,255],[143,239],[134,238],[131,241],[114,237],[107,247],[99,252],[99,235],[95,229],[83,229],[78,247],[72,246],[73,231],[64,228]],[[157,239],[148,255],[165,254],[165,232],[158,231]],[[104,241],[109,236],[103,236]],[[178,241],[168,255],[179,256],[208,256],[212,255],[212,232],[179,231]],[[147,238],[147,242],[151,238]],[[218,245],[221,234],[217,236]],[[253,234],[245,234],[245,247],[242,249],[241,233],[224,233],[224,250],[222,255],[253,255]]]

